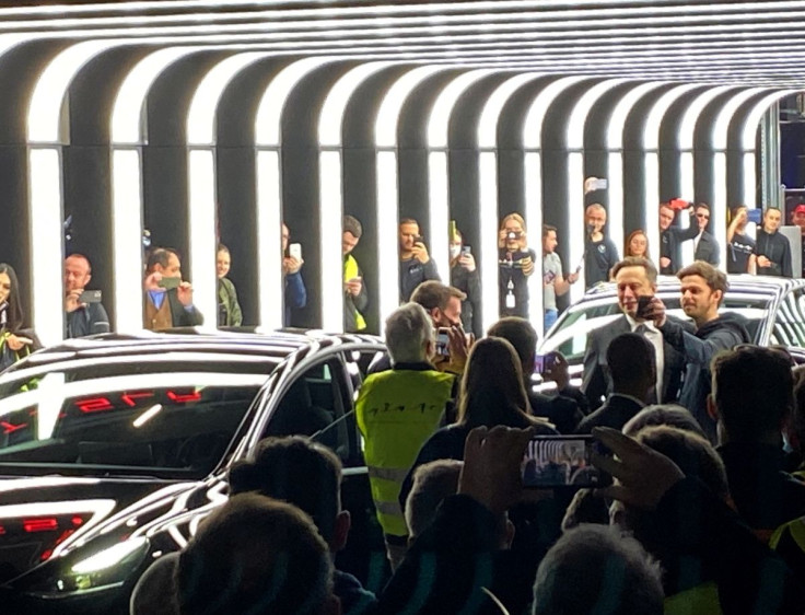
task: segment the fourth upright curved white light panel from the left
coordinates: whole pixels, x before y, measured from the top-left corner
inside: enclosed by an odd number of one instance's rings
[[[201,79],[187,113],[188,235],[192,301],[207,314],[206,326],[214,328],[218,314],[215,246],[215,114],[221,96],[235,76],[265,59],[265,53],[236,54],[213,66]],[[198,147],[205,149],[198,149]]]

